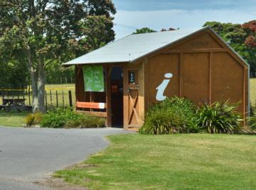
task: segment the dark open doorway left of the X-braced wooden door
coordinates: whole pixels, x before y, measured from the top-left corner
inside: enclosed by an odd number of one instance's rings
[[[111,112],[112,126],[122,128],[124,125],[122,67],[113,67],[111,72]]]

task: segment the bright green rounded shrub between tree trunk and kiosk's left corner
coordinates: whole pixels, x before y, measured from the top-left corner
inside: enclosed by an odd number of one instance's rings
[[[43,116],[41,126],[43,128],[63,128],[68,121],[78,120],[79,118],[81,118],[80,114],[70,109],[57,108]]]

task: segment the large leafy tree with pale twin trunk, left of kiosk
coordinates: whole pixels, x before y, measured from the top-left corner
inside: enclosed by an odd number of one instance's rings
[[[0,55],[27,63],[33,112],[45,111],[47,65],[114,40],[114,13],[110,0],[0,1]]]

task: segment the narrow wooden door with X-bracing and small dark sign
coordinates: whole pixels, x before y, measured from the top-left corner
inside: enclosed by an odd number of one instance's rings
[[[139,127],[139,72],[124,69],[124,128]]]

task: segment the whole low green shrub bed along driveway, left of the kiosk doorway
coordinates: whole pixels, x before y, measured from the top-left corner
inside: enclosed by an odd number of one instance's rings
[[[57,108],[43,116],[43,128],[100,128],[105,125],[104,118],[75,113],[70,109]]]

